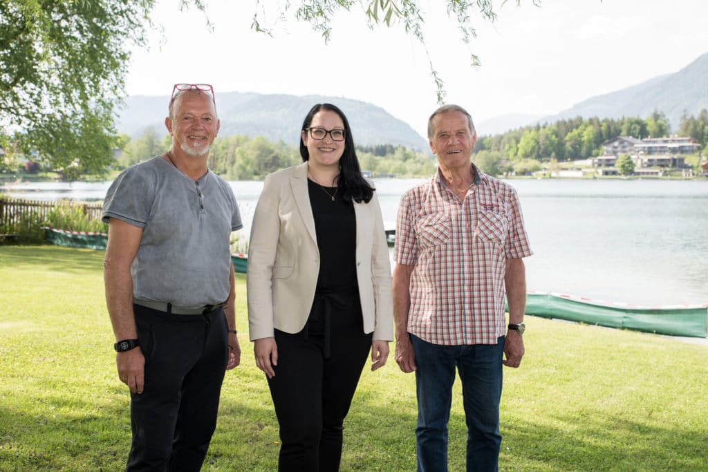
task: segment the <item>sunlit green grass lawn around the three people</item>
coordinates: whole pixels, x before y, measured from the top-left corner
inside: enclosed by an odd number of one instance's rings
[[[118,471],[130,447],[101,251],[0,246],[0,470]],[[274,471],[275,420],[253,362],[236,276],[241,366],[228,372],[205,471]],[[527,354],[505,368],[505,471],[708,470],[708,345],[527,317]],[[459,383],[450,470],[464,470]],[[342,471],[413,471],[415,379],[392,358],[365,371]]]

